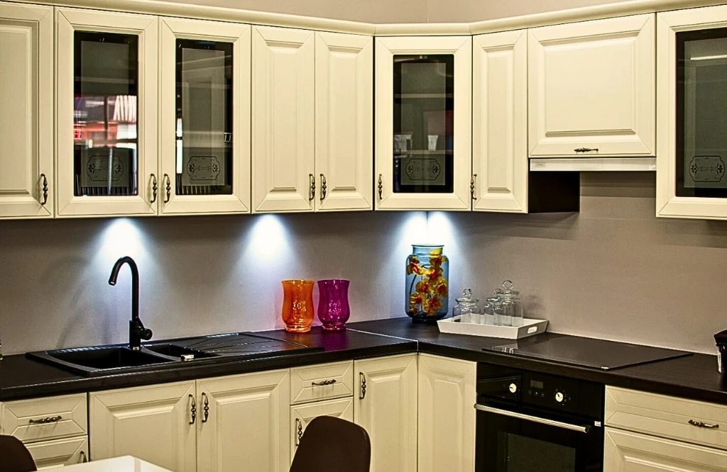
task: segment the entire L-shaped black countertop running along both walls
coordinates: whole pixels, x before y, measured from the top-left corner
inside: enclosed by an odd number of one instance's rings
[[[314,327],[310,333],[303,334],[286,333],[284,330],[255,333],[306,346],[322,346],[323,351],[215,365],[182,365],[174,369],[95,378],[69,373],[28,359],[23,354],[6,356],[0,362],[0,400],[188,381],[218,375],[419,351],[425,354],[565,375],[657,394],[727,404],[727,376],[717,372],[715,356],[707,354],[694,354],[678,359],[602,371],[495,351],[483,351],[483,347],[501,344],[502,340],[439,333],[436,325],[412,323],[409,318],[356,322],[350,323],[348,327],[350,329],[341,333],[326,333],[320,327]],[[563,335],[545,333],[539,336],[547,339]]]

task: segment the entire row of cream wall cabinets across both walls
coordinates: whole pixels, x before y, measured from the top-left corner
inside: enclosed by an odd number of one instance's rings
[[[725,24],[376,38],[374,68],[371,36],[0,2],[0,218],[526,213],[529,158],[658,154],[657,216],[724,219]]]

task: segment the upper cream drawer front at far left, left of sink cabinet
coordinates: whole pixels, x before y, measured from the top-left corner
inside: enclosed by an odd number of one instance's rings
[[[3,434],[23,442],[87,434],[86,394],[18,400],[1,405]]]

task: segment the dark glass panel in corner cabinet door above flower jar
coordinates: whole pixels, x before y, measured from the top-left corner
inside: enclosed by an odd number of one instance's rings
[[[393,61],[393,192],[454,192],[454,54]]]

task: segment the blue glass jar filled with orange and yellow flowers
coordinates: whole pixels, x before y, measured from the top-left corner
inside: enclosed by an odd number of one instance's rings
[[[406,258],[406,314],[414,320],[441,320],[449,308],[449,259],[443,245],[412,245]]]

